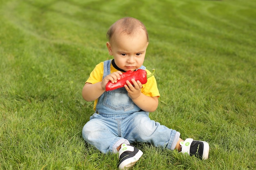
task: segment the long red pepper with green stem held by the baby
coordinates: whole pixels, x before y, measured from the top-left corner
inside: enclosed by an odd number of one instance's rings
[[[112,91],[117,88],[124,87],[127,80],[129,80],[129,82],[133,85],[131,79],[135,79],[136,81],[139,80],[141,84],[146,84],[148,78],[154,75],[155,69],[153,69],[152,71],[153,72],[150,75],[147,75],[146,70],[142,69],[137,69],[136,71],[126,71],[125,73],[120,75],[120,79],[117,80],[116,83],[108,82],[106,85],[106,91]]]

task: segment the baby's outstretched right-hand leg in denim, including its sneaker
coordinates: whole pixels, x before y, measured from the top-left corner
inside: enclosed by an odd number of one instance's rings
[[[209,155],[209,144],[205,141],[195,141],[193,139],[180,138],[180,133],[160,125],[158,122],[151,120],[143,112],[134,113],[122,121],[122,137],[130,142],[146,142],[168,148],[177,149],[182,153],[195,155],[201,159],[207,159]]]

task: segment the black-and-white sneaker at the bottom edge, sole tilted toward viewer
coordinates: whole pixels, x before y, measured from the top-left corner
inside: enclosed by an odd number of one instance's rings
[[[119,170],[129,169],[142,156],[143,152],[132,145],[122,144],[119,152]]]

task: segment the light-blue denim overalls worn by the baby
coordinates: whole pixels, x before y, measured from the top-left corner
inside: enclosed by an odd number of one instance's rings
[[[103,78],[110,74],[110,63],[111,60],[104,62]],[[121,144],[134,142],[174,150],[180,133],[151,120],[148,115],[132,102],[125,88],[107,91],[99,97],[96,112],[83,127],[82,135],[103,153],[115,153]]]

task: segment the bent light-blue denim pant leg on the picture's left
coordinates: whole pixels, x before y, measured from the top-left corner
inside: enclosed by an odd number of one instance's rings
[[[119,137],[117,124],[114,119],[94,113],[83,126],[83,139],[103,153],[117,152],[117,145],[130,144],[127,139]]]

